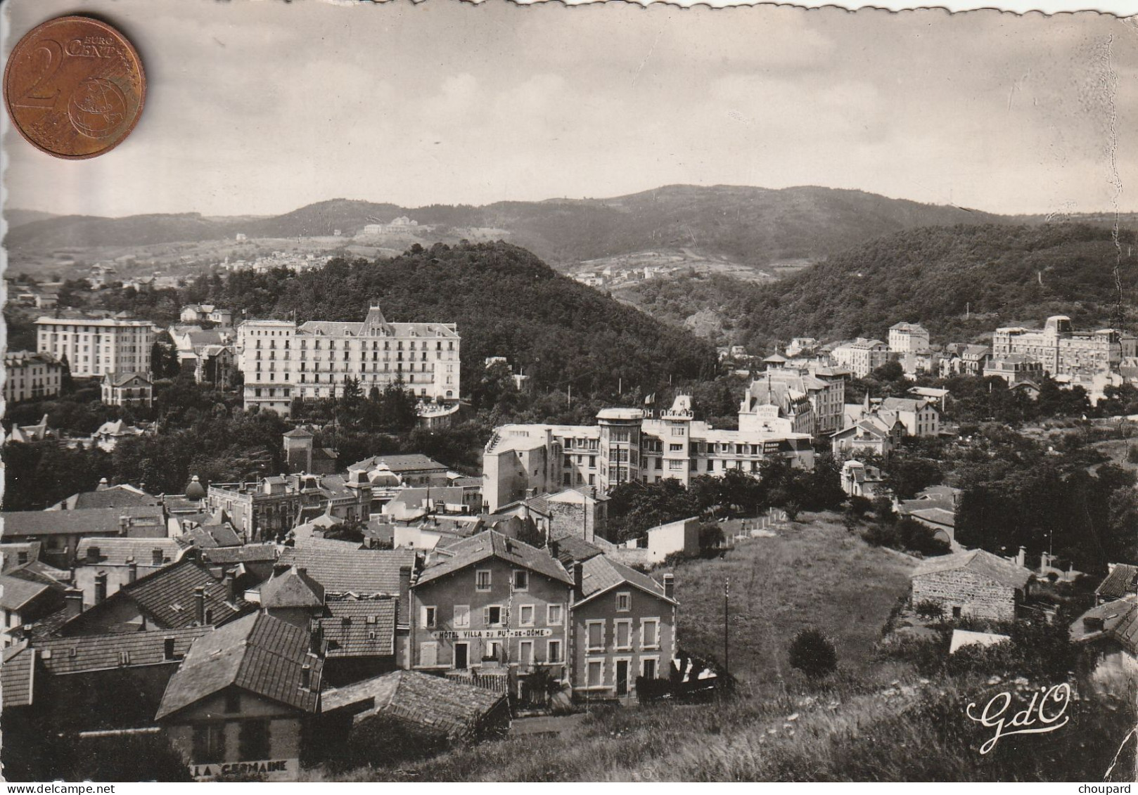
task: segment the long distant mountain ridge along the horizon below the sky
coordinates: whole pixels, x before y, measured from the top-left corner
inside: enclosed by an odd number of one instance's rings
[[[780,260],[818,259],[915,226],[1005,222],[1001,216],[979,210],[856,190],[666,185],[609,199],[500,201],[483,207],[407,208],[331,199],[259,218],[217,218],[197,213],[122,218],[57,216],[14,225],[5,242],[18,254],[221,240],[238,232],[249,238],[331,235],[336,230],[354,235],[369,223],[403,215],[459,234],[467,227],[504,230],[510,242],[561,267],[655,249],[692,249],[761,267]]]

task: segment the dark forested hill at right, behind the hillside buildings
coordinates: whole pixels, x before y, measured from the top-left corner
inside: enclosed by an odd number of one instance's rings
[[[1075,328],[1138,321],[1138,250],[1132,231],[1086,224],[915,229],[828,257],[766,285],[726,278],[646,282],[628,295],[643,310],[678,323],[720,315],[725,334],[756,350],[792,337],[881,337],[920,322],[934,342],[966,341],[1000,325],[1070,315]],[[966,315],[968,315],[966,317]]]

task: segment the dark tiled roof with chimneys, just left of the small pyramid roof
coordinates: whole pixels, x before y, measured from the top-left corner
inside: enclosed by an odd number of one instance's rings
[[[190,627],[197,622],[195,588],[198,586],[206,589],[206,615],[212,616],[206,619],[207,623],[220,626],[254,610],[253,605],[242,599],[228,602],[225,586],[192,557],[183,557],[178,563],[123,586],[110,599],[130,597],[166,627]]]

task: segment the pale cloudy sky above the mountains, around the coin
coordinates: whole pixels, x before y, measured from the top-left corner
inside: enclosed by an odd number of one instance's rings
[[[76,10],[140,51],[142,118],[83,162],[8,130],[8,207],[272,214],[688,183],[1138,212],[1138,24],[1103,15],[16,0],[5,55]]]

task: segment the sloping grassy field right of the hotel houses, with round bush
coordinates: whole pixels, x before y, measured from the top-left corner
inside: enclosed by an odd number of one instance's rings
[[[681,647],[723,660],[723,586],[731,578],[731,671],[760,689],[789,676],[786,649],[805,627],[831,638],[840,668],[875,670],[881,627],[908,591],[912,558],[868,546],[834,514],[799,519],[776,538],[675,568]]]

